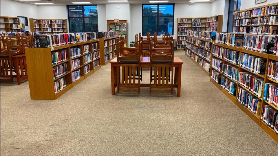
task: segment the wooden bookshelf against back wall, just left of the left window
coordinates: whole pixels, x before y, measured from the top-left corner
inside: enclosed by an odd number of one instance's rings
[[[30,18],[30,31],[46,33],[67,33],[67,19]]]

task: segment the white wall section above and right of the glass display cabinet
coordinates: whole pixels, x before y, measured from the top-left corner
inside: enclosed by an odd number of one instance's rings
[[[120,9],[116,9],[120,6]],[[129,3],[107,3],[105,4],[106,20],[127,20],[127,44],[131,40],[130,4]],[[142,13],[142,12],[141,12]],[[106,21],[105,21],[106,22]],[[107,31],[107,29],[106,29]]]

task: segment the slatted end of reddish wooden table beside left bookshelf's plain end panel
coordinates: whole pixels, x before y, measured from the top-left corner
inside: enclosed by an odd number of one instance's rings
[[[25,54],[12,56],[12,62],[17,77],[17,84],[20,85],[22,80],[28,79]]]

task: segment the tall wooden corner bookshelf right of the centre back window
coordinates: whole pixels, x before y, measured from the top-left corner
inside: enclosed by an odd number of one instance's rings
[[[211,17],[182,17],[177,20],[177,49],[185,48],[186,31],[222,31],[223,15]]]

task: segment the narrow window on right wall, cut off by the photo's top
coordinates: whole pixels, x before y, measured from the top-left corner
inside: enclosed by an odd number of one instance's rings
[[[241,0],[229,0],[229,14],[227,32],[233,32],[234,15],[237,10],[240,10]]]

